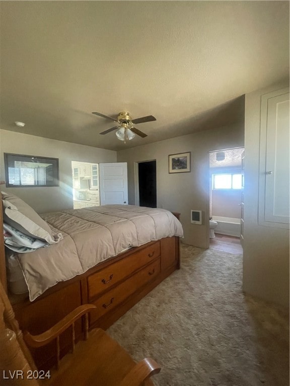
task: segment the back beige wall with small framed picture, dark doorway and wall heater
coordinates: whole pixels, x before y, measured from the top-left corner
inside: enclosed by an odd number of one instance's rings
[[[184,242],[209,245],[210,150],[244,146],[244,124],[189,134],[117,152],[118,162],[128,163],[129,204],[135,204],[134,162],[156,159],[157,207],[181,213]],[[168,155],[191,152],[191,172],[168,173]],[[190,210],[203,212],[202,225],[190,223]]]

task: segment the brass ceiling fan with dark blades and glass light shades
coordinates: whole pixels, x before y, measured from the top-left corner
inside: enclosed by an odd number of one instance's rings
[[[111,121],[118,123],[118,126],[111,127],[111,129],[105,130],[100,134],[103,135],[103,134],[110,133],[113,130],[117,130],[116,132],[117,138],[124,142],[126,142],[127,140],[133,139],[135,137],[135,134],[137,134],[139,137],[142,137],[142,138],[147,137],[147,134],[136,129],[133,125],[136,125],[138,123],[156,121],[156,118],[153,117],[152,115],[149,115],[147,117],[132,119],[130,116],[130,113],[128,113],[127,111],[121,111],[117,119],[108,117],[107,115],[97,113],[97,112],[94,112],[92,114],[98,115],[99,117],[103,117],[106,119],[110,119]]]

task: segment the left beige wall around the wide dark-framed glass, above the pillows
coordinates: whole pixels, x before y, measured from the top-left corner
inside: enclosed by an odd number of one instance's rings
[[[116,152],[91,146],[0,130],[0,179],[5,180],[3,153],[45,156],[59,159],[59,186],[11,187],[4,191],[22,198],[36,212],[45,213],[73,208],[71,161],[116,162]]]

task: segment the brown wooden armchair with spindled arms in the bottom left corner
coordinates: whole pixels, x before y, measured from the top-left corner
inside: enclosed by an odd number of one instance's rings
[[[135,363],[130,355],[100,328],[88,331],[88,313],[95,305],[82,305],[40,335],[22,334],[0,283],[0,383],[50,386],[150,386],[160,371],[151,358]],[[75,322],[83,318],[84,340],[75,344]],[[60,359],[59,336],[71,332],[71,351]],[[28,346],[42,347],[55,341],[55,369],[37,369]]]

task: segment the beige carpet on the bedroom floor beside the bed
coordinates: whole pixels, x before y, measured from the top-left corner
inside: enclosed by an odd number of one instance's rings
[[[288,315],[242,293],[242,256],[181,247],[181,269],[112,327],[157,386],[288,386]]]

